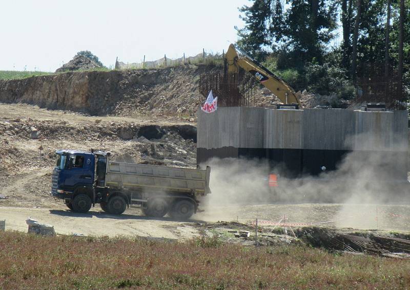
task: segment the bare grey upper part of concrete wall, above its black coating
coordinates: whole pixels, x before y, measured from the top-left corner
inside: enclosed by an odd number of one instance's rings
[[[405,151],[406,111],[220,107],[198,112],[197,147]]]

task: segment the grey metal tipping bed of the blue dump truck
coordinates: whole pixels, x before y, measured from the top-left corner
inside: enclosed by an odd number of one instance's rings
[[[210,193],[210,171],[210,167],[192,169],[109,161],[106,186],[206,195]]]

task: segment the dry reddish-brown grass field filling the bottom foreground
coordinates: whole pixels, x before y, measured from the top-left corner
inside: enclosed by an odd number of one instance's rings
[[[0,234],[1,289],[393,289],[410,260],[332,254],[305,246],[243,247],[212,238]]]

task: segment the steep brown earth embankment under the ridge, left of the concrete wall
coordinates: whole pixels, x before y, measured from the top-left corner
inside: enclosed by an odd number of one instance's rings
[[[196,66],[158,70],[67,72],[0,81],[0,102],[28,103],[95,116],[193,115]]]

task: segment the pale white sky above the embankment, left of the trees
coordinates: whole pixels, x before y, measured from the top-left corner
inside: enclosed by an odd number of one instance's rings
[[[55,71],[81,50],[106,66],[227,50],[248,0],[5,0],[0,70]]]

